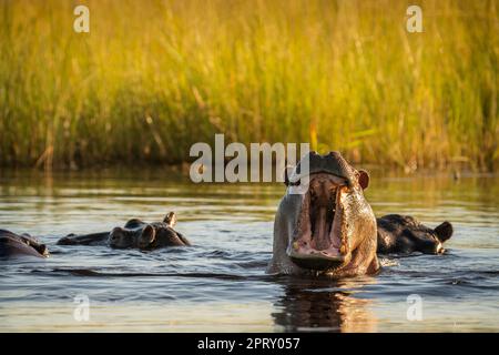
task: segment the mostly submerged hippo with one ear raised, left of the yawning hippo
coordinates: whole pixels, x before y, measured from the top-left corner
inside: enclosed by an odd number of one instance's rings
[[[111,232],[75,235],[69,234],[58,241],[59,245],[109,245],[113,248],[155,250],[164,246],[191,245],[185,236],[173,230],[176,215],[170,212],[162,222],[146,223],[132,219],[123,227]]]

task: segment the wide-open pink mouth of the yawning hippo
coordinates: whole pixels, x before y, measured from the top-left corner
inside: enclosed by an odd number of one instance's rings
[[[330,174],[310,175],[287,254],[301,267],[336,268],[348,255],[343,229],[342,184]]]

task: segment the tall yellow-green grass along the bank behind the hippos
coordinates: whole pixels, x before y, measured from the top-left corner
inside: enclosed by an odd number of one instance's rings
[[[175,163],[222,132],[493,170],[499,1],[416,2],[422,33],[415,1],[0,0],[0,165]]]

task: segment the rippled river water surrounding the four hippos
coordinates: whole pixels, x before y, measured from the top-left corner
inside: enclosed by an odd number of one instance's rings
[[[171,171],[0,176],[0,227],[51,251],[0,261],[1,332],[499,331],[498,176],[375,171],[366,197],[377,216],[447,220],[455,234],[446,255],[383,257],[379,275],[339,282],[265,274],[281,184],[196,185]],[[194,246],[55,245],[169,211]]]

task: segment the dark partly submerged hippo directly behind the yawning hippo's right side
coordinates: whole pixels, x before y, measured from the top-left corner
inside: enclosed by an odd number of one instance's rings
[[[378,253],[444,254],[442,244],[452,236],[452,224],[444,222],[435,230],[415,217],[400,214],[388,214],[377,219]]]

